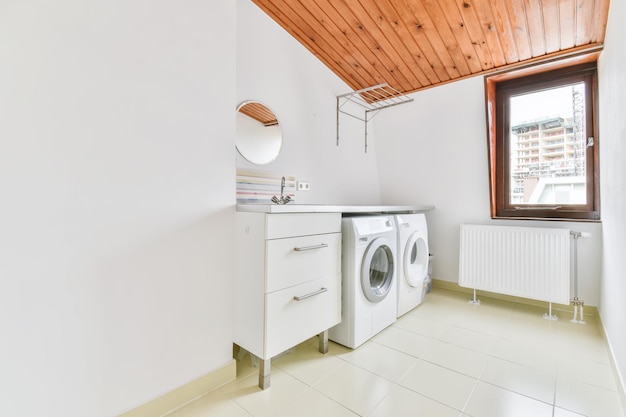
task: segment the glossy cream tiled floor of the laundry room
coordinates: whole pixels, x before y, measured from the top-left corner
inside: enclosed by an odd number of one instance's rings
[[[624,416],[595,317],[467,298],[435,289],[356,350],[310,339],[272,362],[265,391],[245,356],[234,382],[171,416]]]

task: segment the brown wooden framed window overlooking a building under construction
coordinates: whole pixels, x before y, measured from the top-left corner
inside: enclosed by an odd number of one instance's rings
[[[492,218],[600,220],[596,62],[563,65],[486,78]]]

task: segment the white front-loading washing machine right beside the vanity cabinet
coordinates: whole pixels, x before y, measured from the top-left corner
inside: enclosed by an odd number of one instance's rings
[[[354,349],[396,320],[396,228],[393,216],[360,216],[341,231],[341,323],[328,338]]]

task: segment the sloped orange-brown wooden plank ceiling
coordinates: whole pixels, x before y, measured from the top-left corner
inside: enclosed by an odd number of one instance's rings
[[[252,0],[353,90],[401,93],[599,48],[609,0]]]

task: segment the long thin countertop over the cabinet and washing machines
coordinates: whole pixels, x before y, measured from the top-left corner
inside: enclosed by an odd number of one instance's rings
[[[423,213],[435,206],[335,206],[331,204],[237,204],[237,211],[254,213]]]

